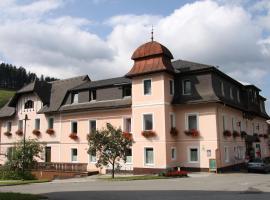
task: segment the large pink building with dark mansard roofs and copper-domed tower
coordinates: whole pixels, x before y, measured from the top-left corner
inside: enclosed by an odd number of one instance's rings
[[[229,169],[247,155],[270,156],[266,99],[256,86],[214,66],[172,61],[155,41],[140,46],[132,59],[124,77],[35,81],[17,91],[0,111],[1,154],[22,139],[27,114],[26,138],[45,145],[40,162],[55,168],[65,163],[97,170],[86,138],[106,123],[132,133],[135,143],[121,170],[137,174],[175,166],[206,171],[210,159]],[[0,163],[5,160],[2,155]]]

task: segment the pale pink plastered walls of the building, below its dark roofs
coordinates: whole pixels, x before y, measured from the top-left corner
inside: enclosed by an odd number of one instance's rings
[[[147,80],[151,82],[151,91],[145,94]],[[258,135],[268,134],[267,117],[254,114],[252,119],[247,119],[243,116],[243,110],[225,103],[209,101],[172,104],[177,87],[174,82],[171,83],[175,80],[174,75],[166,71],[134,76],[131,78],[132,96],[124,97],[124,100],[129,98],[132,100],[131,106],[110,109],[74,109],[68,112],[59,109],[57,112],[38,114],[43,107],[39,96],[35,93],[21,95],[17,99],[15,114],[11,117],[0,118],[0,152],[5,154],[9,147],[22,139],[22,136],[16,135],[15,132],[18,130],[19,120],[22,120],[25,114],[30,119],[27,121],[26,138],[35,138],[44,144],[44,147],[50,147],[48,162],[85,163],[88,171],[97,170],[95,158],[87,153],[86,138],[93,126],[91,121],[94,121],[97,129],[102,129],[106,123],[111,123],[126,131],[126,119],[130,119],[131,130],[129,131],[135,143],[129,162],[123,163],[121,169],[134,171],[134,173],[158,172],[178,166],[194,170],[208,170],[209,159],[216,159],[218,168],[241,164],[247,155],[247,145],[240,133],[245,131],[250,135],[254,132]],[[207,84],[210,82],[206,81],[205,85]],[[178,90],[182,92],[182,89],[178,88]],[[202,91],[208,93],[210,90],[206,88]],[[33,108],[24,109],[27,100],[34,102]],[[112,100],[101,102],[109,101]],[[77,103],[77,105],[92,106],[95,103],[98,102]],[[64,104],[63,107],[69,106]],[[74,102],[71,104],[71,106],[76,106]],[[46,133],[50,118],[53,119],[54,134],[52,135]],[[37,128],[37,119],[40,121],[38,127],[40,136],[32,133]],[[12,135],[8,137],[4,133],[8,131],[10,123]],[[74,123],[77,140],[69,137],[73,132]],[[192,133],[188,135],[187,131],[191,131],[191,126],[196,127],[198,136]],[[145,137],[142,134],[144,130],[148,131],[149,127],[155,136]],[[172,128],[177,131],[176,134],[172,134]],[[236,131],[239,136],[226,137],[225,130]],[[268,138],[260,137],[260,140],[252,142],[252,145],[255,150],[258,145],[260,146],[261,157],[270,156]],[[45,153],[42,157],[43,160],[40,162],[45,161]],[[5,160],[6,157],[2,155],[0,164],[3,164]],[[110,166],[107,168],[109,169]],[[100,172],[104,173],[105,170],[100,170]]]

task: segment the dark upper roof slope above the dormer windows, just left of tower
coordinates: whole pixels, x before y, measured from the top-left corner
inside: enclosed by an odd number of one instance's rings
[[[82,85],[79,85],[71,89],[71,91],[84,90],[84,89],[90,89],[90,88],[100,88],[100,87],[107,87],[107,86],[114,86],[114,85],[126,85],[126,84],[131,84],[131,79],[126,78],[126,77],[117,77],[117,78],[86,82],[86,83],[83,83]]]

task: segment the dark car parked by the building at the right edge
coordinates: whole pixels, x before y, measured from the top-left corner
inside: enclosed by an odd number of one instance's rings
[[[270,161],[269,159],[255,158],[251,159],[247,164],[248,172],[270,172]]]

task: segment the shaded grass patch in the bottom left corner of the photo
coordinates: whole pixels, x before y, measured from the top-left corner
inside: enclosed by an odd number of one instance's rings
[[[21,194],[13,192],[0,192],[0,200],[39,200],[39,199],[48,199],[42,195],[35,194]]]

